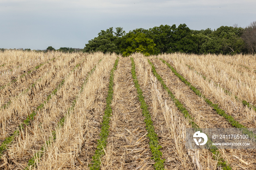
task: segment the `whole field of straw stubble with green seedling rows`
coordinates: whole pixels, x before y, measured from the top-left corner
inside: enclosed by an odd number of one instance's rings
[[[256,169],[185,129],[256,128],[254,55],[0,53],[0,169]]]

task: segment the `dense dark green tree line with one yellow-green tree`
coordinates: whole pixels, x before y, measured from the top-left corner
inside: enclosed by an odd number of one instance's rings
[[[85,45],[84,52],[102,51],[128,56],[135,52],[144,55],[161,53],[246,54],[256,53],[256,22],[241,28],[221,26],[216,30],[191,30],[186,24],[176,27],[161,25],[139,28],[126,33],[123,28],[101,30]]]

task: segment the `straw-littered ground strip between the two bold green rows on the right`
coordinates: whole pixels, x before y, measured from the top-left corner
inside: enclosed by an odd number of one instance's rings
[[[161,75],[167,87],[187,108],[200,128],[233,128],[224,117],[218,115],[202,98],[198,97],[188,86],[181,82],[169,67],[159,59],[152,58],[151,61],[153,61],[158,74]],[[214,100],[214,98],[212,97],[211,100]],[[256,149],[221,150],[221,152],[224,159],[230,163],[233,169],[256,169]],[[241,158],[246,163],[249,163],[249,165],[238,161],[234,156]]]

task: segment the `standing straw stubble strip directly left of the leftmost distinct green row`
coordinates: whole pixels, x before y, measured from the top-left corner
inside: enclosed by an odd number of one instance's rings
[[[68,67],[68,62],[73,60],[70,67]],[[63,58],[58,58],[50,66],[48,66],[47,71],[44,70],[44,74],[41,76],[41,81],[35,82],[35,86],[30,88],[28,91],[20,92],[18,96],[11,97],[11,104],[8,108],[0,109],[0,140],[1,142],[9,134],[13,133],[16,127],[26,119],[26,117],[35,110],[38,105],[46,100],[46,96],[49,95],[65,75],[78,64],[80,57],[75,57],[72,55],[63,55]],[[30,81],[28,81],[30,82]],[[31,84],[27,84],[29,87]],[[25,88],[26,88],[25,87]],[[1,97],[3,98],[3,97]]]

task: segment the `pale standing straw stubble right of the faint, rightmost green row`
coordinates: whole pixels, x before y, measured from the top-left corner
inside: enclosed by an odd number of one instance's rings
[[[211,80],[221,84],[230,92],[256,105],[256,74],[253,72],[256,59],[251,55],[184,55],[166,56],[176,62],[185,63]],[[229,61],[233,64],[228,63]],[[239,61],[239,62],[238,62]],[[248,62],[249,61],[249,62]],[[241,63],[248,63],[251,69],[241,67]],[[253,64],[254,63],[254,64]],[[247,67],[246,66],[246,67]],[[249,67],[248,67],[249,68]],[[256,68],[254,68],[256,69]]]

